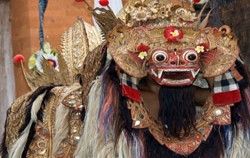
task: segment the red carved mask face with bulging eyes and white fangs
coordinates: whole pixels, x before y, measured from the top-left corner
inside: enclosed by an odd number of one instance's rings
[[[155,49],[148,61],[148,74],[158,84],[165,86],[187,86],[198,74],[199,54],[194,48],[184,50]]]

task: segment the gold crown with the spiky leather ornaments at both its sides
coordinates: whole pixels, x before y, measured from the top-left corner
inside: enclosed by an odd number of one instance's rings
[[[208,2],[196,16],[193,3],[190,0],[129,0],[118,14],[118,18],[109,6],[93,9],[87,5],[102,32],[106,34],[119,24],[126,24],[129,27],[164,28],[175,26],[199,30],[206,27],[211,13],[210,11],[201,22],[201,15],[207,4]]]

